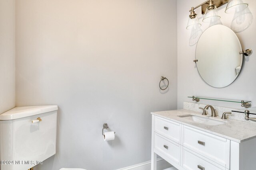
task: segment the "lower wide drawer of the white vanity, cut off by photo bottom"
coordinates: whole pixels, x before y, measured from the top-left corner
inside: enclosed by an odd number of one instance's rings
[[[200,156],[192,150],[183,147],[182,150],[182,166],[185,170],[225,170],[211,160]]]

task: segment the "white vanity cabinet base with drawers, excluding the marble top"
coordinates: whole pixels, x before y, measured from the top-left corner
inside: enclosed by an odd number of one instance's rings
[[[157,155],[178,170],[256,170],[254,145],[255,138],[238,143],[152,115],[151,170]]]

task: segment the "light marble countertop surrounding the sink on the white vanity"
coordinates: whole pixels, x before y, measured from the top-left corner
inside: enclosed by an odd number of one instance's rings
[[[190,111],[186,109],[180,110],[169,110],[169,111],[158,111],[152,112],[152,115],[156,115],[165,119],[169,119],[171,121],[175,121],[177,123],[181,123],[182,125],[186,125],[189,127],[193,127],[195,129],[199,129],[213,135],[217,135],[219,137],[224,137],[226,139],[230,139],[232,141],[241,143],[243,141],[247,141],[256,137],[256,124],[250,123],[246,121],[239,121],[234,119],[221,119],[218,117],[211,117],[210,119],[225,121],[224,124],[220,125],[206,125],[203,123],[197,123],[189,119],[184,119],[182,117],[178,117],[180,115],[188,115],[195,114],[202,116],[202,113],[196,111]]]

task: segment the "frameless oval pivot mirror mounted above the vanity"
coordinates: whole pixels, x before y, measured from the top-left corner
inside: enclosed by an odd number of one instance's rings
[[[210,86],[222,88],[238,76],[243,62],[241,43],[232,29],[213,25],[206,29],[196,46],[196,67]]]

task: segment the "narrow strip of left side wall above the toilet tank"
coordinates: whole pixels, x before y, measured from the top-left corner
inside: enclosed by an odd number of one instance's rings
[[[15,0],[0,1],[0,113],[15,106]]]

